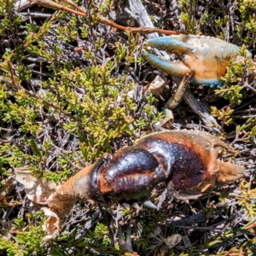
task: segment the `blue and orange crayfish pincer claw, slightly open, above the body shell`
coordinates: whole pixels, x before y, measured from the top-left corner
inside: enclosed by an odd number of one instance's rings
[[[144,49],[143,56],[152,66],[177,77],[191,74],[190,83],[210,87],[221,87],[224,84],[221,77],[226,73],[230,61],[239,55],[239,47],[234,44],[195,35],[152,38],[144,46],[176,53],[180,57],[180,61],[176,62],[163,61]]]

